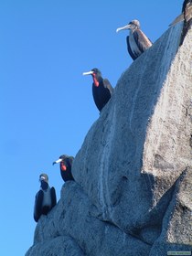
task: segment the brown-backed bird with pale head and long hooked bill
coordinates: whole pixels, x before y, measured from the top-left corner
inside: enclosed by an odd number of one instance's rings
[[[124,29],[130,29],[130,34],[126,37],[126,40],[127,50],[133,60],[137,59],[147,48],[152,46],[151,40],[140,29],[140,22],[138,20],[134,19],[125,27],[117,28],[116,32]]]

